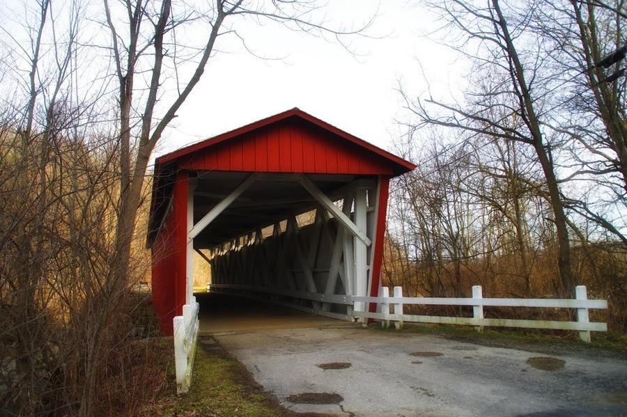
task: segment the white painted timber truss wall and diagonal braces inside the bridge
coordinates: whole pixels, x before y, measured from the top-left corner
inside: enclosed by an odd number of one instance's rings
[[[244,187],[255,180],[258,177],[251,176]],[[346,296],[366,297],[371,288],[378,181],[348,184],[343,198],[332,201],[306,176],[295,175],[293,180],[318,201],[308,213],[313,221],[298,221],[302,213],[294,213],[274,223],[272,233],[268,228],[252,230],[210,249],[209,255],[203,255],[212,267],[210,289],[353,320],[353,308],[366,311],[367,304],[353,304]],[[196,225],[188,222],[188,251],[194,236],[211,221],[219,221],[219,210],[233,202],[242,188]],[[191,270],[187,276],[191,281]]]

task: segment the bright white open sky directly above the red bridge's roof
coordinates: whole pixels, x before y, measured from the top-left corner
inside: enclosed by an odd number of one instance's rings
[[[379,6],[376,24],[368,32],[380,39],[354,37],[352,56],[337,42],[326,42],[277,25],[256,22],[236,26],[247,46],[263,56],[256,58],[238,42],[222,42],[221,52],[210,59],[203,80],[178,111],[157,155],[281,111],[299,107],[369,141],[390,149],[403,118],[398,81],[413,96],[426,90],[452,91],[453,58],[446,47],[421,36],[432,26],[419,6],[406,0],[335,0],[330,15],[357,24]],[[219,40],[220,42],[220,40]],[[424,72],[424,75],[423,75]],[[217,97],[217,100],[216,100]]]

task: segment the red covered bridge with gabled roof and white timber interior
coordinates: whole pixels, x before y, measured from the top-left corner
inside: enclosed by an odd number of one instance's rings
[[[165,334],[192,297],[192,253],[212,290],[353,320],[378,295],[389,180],[415,168],[291,109],[157,158],[148,228]]]

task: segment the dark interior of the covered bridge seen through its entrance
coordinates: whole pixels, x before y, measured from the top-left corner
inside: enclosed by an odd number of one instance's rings
[[[192,184],[194,225],[230,202],[194,237],[212,292],[352,320],[353,304],[341,296],[369,286],[377,178],[210,172]]]

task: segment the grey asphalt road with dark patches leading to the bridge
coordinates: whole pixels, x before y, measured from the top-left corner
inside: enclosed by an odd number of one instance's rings
[[[344,322],[299,325],[291,310],[271,313],[274,325],[256,328],[272,309],[249,314],[254,320],[240,329],[209,332],[297,413],[627,416],[625,359],[537,354]],[[290,328],[281,329],[281,315]]]

